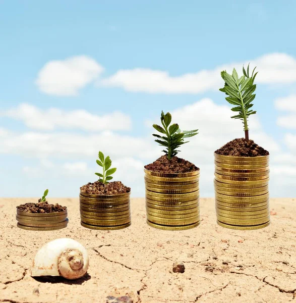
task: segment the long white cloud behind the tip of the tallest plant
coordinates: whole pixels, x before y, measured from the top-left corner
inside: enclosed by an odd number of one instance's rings
[[[127,91],[148,93],[201,93],[217,90],[223,86],[220,72],[230,73],[232,68],[241,71],[242,65],[249,61],[221,65],[213,70],[201,70],[196,73],[170,76],[167,71],[135,68],[119,70],[114,75],[102,79],[99,85],[122,87]],[[251,60],[251,67],[259,71],[257,83],[289,84],[296,82],[296,60],[287,54],[267,54]]]

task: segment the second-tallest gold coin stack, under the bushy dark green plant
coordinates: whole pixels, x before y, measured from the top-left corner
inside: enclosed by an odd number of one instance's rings
[[[185,230],[200,224],[199,170],[180,174],[144,172],[148,225]]]

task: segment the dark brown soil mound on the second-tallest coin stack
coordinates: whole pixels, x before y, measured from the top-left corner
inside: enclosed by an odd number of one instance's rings
[[[189,173],[199,170],[193,163],[178,157],[167,159],[166,155],[161,156],[153,163],[145,166],[146,169],[157,173]]]

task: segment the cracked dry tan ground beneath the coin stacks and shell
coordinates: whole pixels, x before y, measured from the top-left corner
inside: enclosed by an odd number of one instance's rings
[[[53,199],[68,207],[69,225],[52,232],[16,227],[16,206],[31,199],[0,199],[0,302],[99,302],[129,295],[134,303],[296,303],[296,205],[271,199],[272,224],[257,231],[216,225],[213,199],[201,199],[201,225],[161,231],[146,225],[143,198],[132,199],[132,226],[95,231],[80,225],[79,200]],[[89,251],[88,275],[76,281],[30,277],[37,250],[71,237]],[[184,273],[173,273],[175,261]]]

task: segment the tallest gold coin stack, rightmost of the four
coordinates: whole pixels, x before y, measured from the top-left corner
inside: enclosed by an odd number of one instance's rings
[[[214,156],[218,225],[243,230],[268,226],[269,156]]]

